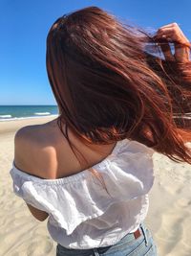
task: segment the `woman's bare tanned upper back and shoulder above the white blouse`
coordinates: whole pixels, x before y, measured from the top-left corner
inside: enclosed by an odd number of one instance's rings
[[[60,178],[89,169],[105,159],[115,148],[111,145],[82,144],[69,129],[69,138],[88,160],[81,168],[74,152],[56,124],[56,119],[43,125],[28,126],[15,136],[15,165],[31,175]],[[96,149],[96,151],[94,150]]]

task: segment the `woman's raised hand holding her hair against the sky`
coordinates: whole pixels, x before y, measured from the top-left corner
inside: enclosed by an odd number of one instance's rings
[[[166,60],[178,62],[187,62],[190,60],[191,43],[183,35],[177,23],[170,23],[160,27],[153,38],[156,42],[159,42],[159,46]],[[174,55],[171,52],[170,45],[166,42],[174,43]]]

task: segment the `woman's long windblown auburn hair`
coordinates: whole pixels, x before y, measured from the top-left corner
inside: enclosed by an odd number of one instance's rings
[[[97,7],[65,14],[47,37],[46,63],[57,125],[71,147],[68,127],[86,145],[128,138],[191,163],[181,132],[191,110],[191,63],[163,59],[146,30]]]

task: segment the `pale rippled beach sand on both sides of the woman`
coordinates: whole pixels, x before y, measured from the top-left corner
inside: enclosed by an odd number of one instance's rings
[[[10,176],[13,138],[18,128],[43,124],[55,117],[0,122],[0,256],[55,255],[46,221],[32,217],[27,205],[12,192]],[[159,256],[191,255],[191,166],[155,153],[155,183],[150,192],[146,224]]]

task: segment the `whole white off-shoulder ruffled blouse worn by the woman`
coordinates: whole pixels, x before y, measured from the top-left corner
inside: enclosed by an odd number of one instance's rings
[[[47,227],[56,243],[79,249],[116,244],[147,215],[153,152],[137,141],[118,141],[112,153],[93,166],[107,191],[88,170],[43,179],[18,170],[13,162],[13,192],[49,214]]]

